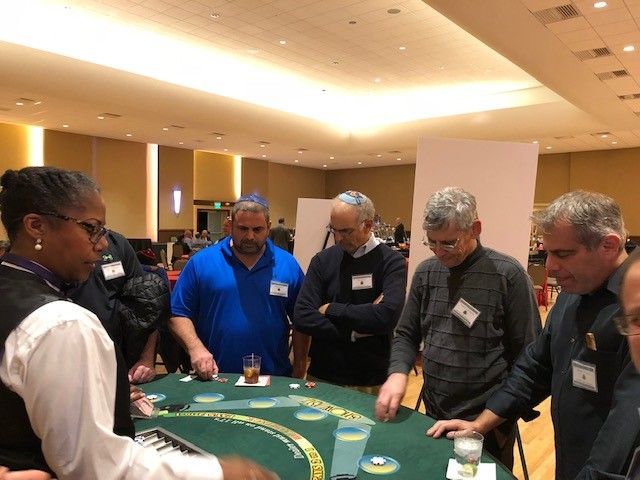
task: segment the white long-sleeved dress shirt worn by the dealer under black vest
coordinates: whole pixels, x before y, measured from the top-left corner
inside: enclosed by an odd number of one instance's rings
[[[88,310],[48,303],[24,319],[4,347],[0,380],[24,400],[59,479],[222,480],[213,456],[160,457],[113,433],[114,346]]]

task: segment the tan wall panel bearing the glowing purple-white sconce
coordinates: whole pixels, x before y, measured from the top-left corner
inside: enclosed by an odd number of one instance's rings
[[[158,147],[158,230],[193,226],[193,151]],[[180,214],[173,213],[173,189],[182,190]]]

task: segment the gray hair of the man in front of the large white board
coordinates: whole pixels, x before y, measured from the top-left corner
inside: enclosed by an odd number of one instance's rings
[[[422,228],[438,231],[453,224],[464,231],[477,219],[476,197],[460,187],[445,187],[427,199]]]

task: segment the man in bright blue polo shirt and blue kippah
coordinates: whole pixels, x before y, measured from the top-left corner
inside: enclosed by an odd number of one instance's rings
[[[303,273],[288,252],[268,239],[269,205],[243,195],[231,213],[231,235],[194,255],[171,298],[171,331],[199,377],[218,370],[242,373],[242,357],[262,357],[261,373],[302,377],[309,339],[293,332],[289,319]]]

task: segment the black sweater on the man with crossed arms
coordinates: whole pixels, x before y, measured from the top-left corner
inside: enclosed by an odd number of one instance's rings
[[[373,288],[352,290],[352,276],[371,274]],[[378,245],[360,258],[339,246],[311,260],[294,311],[296,330],[311,335],[309,373],[340,385],[384,383],[391,338],[406,288],[402,255]],[[372,302],[384,293],[379,304]],[[326,315],[318,308],[329,303]],[[352,338],[352,332],[368,334]]]

